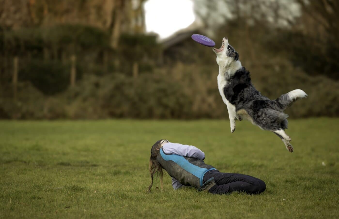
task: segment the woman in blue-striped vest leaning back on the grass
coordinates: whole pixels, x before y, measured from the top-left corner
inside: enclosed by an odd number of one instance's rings
[[[255,177],[243,174],[220,172],[211,165],[204,163],[205,154],[200,149],[171,143],[167,140],[157,141],[151,149],[149,171],[152,182],[148,187],[151,191],[153,176],[159,173],[161,189],[162,169],[172,177],[172,186],[193,186],[198,191],[208,191],[212,194],[229,194],[233,191],[245,191],[249,194],[259,194],[265,191],[265,183]]]

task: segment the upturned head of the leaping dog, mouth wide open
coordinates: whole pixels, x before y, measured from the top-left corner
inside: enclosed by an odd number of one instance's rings
[[[213,48],[213,52],[217,54],[217,63],[218,65],[228,66],[232,61],[237,61],[239,59],[239,53],[235,51],[232,45],[228,44],[227,37],[222,39],[222,44],[220,49]]]

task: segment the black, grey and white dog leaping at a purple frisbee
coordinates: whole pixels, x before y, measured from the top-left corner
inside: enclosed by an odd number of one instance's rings
[[[297,89],[270,100],[252,85],[250,72],[241,66],[239,54],[228,44],[227,37],[222,39],[221,48],[213,48],[213,51],[217,54],[218,88],[227,105],[231,132],[235,131],[235,118],[239,121],[245,119],[263,130],[273,131],[284,142],[286,149],[293,152],[291,138],[284,131],[288,124],[288,115],[284,110],[307,94]]]

